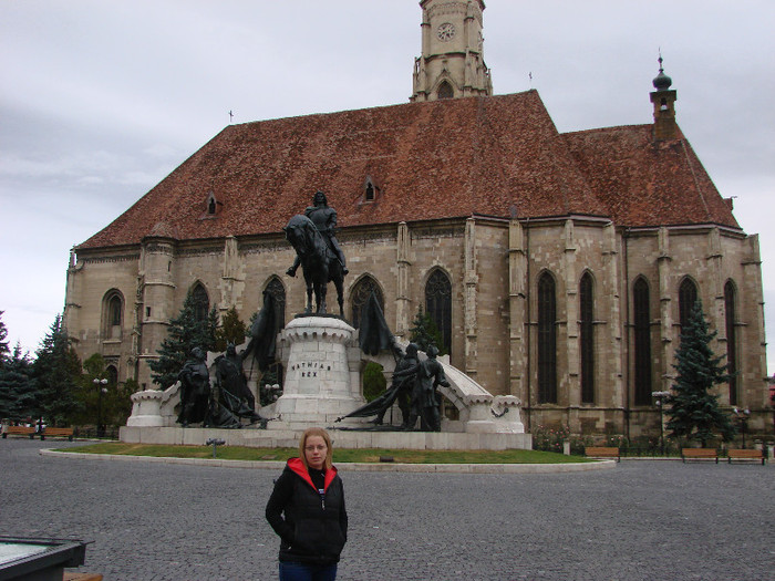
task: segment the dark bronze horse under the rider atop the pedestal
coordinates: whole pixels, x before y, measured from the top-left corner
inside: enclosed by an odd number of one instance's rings
[[[291,243],[301,261],[301,270],[307,283],[307,308],[304,313],[312,313],[312,292],[314,291],[316,313],[324,314],[326,292],[329,282],[337,287],[339,315],[344,318],[344,274],[339,257],[330,248],[328,241],[314,226],[312,220],[301,214],[293,216],[283,228],[286,239]],[[293,267],[288,269],[293,277]]]

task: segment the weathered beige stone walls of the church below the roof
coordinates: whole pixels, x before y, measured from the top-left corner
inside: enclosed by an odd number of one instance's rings
[[[735,332],[740,350],[737,405],[752,409],[752,430],[764,428],[767,391],[761,270],[756,236],[724,228],[679,227],[631,230],[588,217],[519,220],[472,217],[436,224],[347,229],[340,242],[351,269],[345,279],[345,315],[352,290],[371,277],[382,291],[385,317],[407,339],[425,283],[434,269],[452,282],[452,365],[494,395],[515,395],[530,425],[568,424],[574,432],[658,430],[651,403],[634,404],[632,284],[642,277],[650,292],[653,391],[669,390],[679,341],[679,286],[698,283],[709,321],[720,330],[716,351],[726,350],[724,284],[738,290]],[[286,292],[286,320],[301,312],[304,286],[286,276],[293,259],[288,245],[259,239],[220,246],[147,238],[134,255],[80,257],[69,274],[68,318],[80,354],[102,353],[120,378],[152,387],[147,361],[165,336],[195,282],[220,312],[236,307],[247,320],[260,309],[267,283],[278,278]],[[556,403],[537,395],[538,279],[556,282]],[[581,276],[593,280],[595,398],[581,402],[579,295]],[[105,298],[125,297],[118,336],[106,326]],[[752,349],[752,346],[754,349]],[[730,404],[728,390],[720,388]]]

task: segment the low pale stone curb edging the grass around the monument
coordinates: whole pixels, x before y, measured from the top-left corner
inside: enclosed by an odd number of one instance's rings
[[[162,464],[187,464],[193,466],[218,466],[227,468],[251,468],[282,470],[285,461],[277,460],[221,460],[218,458],[170,458],[158,456],[123,456],[114,454],[84,454],[79,452],[54,452],[41,449],[41,456],[99,459],[115,461],[155,461]],[[342,463],[337,465],[342,473],[458,473],[458,474],[558,474],[585,473],[616,468],[616,460],[598,460],[578,464],[396,464],[396,463]]]

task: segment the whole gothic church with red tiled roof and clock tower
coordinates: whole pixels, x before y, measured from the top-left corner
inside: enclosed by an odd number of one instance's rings
[[[561,134],[536,91],[493,95],[484,1],[421,8],[410,103],[229,125],[74,248],[80,356],[155,387],[148,362],[189,292],[247,321],[269,291],[287,322],[306,295],[281,228],[320,189],[350,322],[372,291],[403,338],[427,311],[451,363],[519,397],[528,430],[659,434],[651,394],[670,388],[700,300],[735,372],[720,401],[764,430],[758,238],[678,126],[670,77],[654,79],[653,124]]]

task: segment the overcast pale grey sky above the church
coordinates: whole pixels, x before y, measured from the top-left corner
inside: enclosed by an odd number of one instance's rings
[[[662,50],[678,121],[747,234],[775,330],[775,2],[486,0],[495,93],[560,132],[650,123]],[[407,102],[415,0],[0,0],[0,310],[33,351],[70,249],[229,123]],[[533,80],[530,80],[530,73]],[[775,341],[769,372],[775,371]]]

